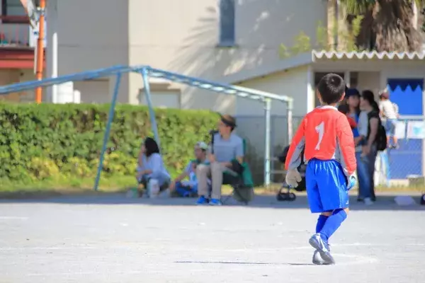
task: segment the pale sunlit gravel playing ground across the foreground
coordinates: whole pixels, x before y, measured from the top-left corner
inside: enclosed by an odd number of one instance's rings
[[[0,201],[0,282],[424,282],[425,209],[353,203],[311,264],[305,197],[249,206],[123,195]]]

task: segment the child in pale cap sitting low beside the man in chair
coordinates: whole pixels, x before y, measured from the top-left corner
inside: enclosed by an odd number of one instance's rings
[[[191,197],[198,194],[198,179],[196,178],[196,166],[198,164],[208,163],[207,160],[208,145],[203,141],[198,141],[195,145],[195,160],[189,161],[183,173],[181,173],[173,182],[170,190],[176,191],[181,197]],[[184,178],[189,180],[185,181]]]

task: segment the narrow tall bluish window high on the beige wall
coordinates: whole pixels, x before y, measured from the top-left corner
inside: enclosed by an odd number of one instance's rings
[[[220,0],[220,46],[234,46],[234,0]]]

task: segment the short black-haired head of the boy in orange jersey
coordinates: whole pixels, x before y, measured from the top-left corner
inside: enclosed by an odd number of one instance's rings
[[[317,91],[319,91],[323,103],[338,103],[346,91],[346,83],[341,76],[330,73],[320,79]]]

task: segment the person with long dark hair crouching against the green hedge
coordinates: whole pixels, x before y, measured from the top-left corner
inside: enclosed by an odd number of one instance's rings
[[[147,137],[140,148],[137,168],[137,181],[144,185],[145,189],[149,180],[157,180],[160,190],[166,189],[170,183],[170,174],[166,171],[164,161],[159,153],[157,141]]]

